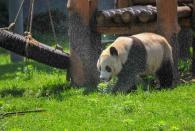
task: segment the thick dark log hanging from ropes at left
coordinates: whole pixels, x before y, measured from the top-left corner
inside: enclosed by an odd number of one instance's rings
[[[55,68],[69,67],[69,54],[37,41],[27,43],[25,37],[1,29],[0,47]]]

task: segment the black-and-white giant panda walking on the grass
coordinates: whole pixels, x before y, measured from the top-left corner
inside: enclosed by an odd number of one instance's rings
[[[100,80],[118,77],[114,92],[135,90],[138,76],[149,74],[159,79],[160,87],[170,87],[173,81],[172,48],[163,36],[155,33],[118,37],[102,51],[97,69]]]

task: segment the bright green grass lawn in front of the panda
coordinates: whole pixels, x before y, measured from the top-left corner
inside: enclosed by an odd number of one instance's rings
[[[36,109],[45,111],[0,116],[0,130],[195,130],[195,84],[127,95],[86,93],[70,86],[66,71],[31,60],[11,63],[3,52],[0,113]]]

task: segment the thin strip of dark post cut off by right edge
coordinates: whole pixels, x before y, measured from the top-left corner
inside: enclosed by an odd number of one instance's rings
[[[195,9],[195,0],[193,0],[193,8]],[[192,13],[192,30],[195,31],[195,10]],[[193,55],[192,55],[192,76],[195,77],[195,35],[193,33]]]

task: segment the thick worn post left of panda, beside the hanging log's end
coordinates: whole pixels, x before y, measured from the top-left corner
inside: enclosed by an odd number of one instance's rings
[[[97,0],[68,0],[67,3],[70,75],[76,86],[94,87],[99,81],[96,63],[101,53],[101,35],[95,31],[96,7]]]

